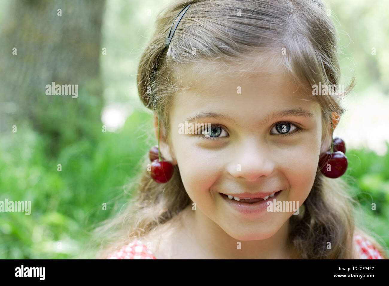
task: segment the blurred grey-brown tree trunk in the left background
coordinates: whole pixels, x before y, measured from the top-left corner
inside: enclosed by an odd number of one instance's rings
[[[93,137],[94,124],[101,130],[103,10],[104,0],[9,2],[0,24],[0,132],[29,123],[53,145]],[[47,95],[53,82],[77,85],[77,98]]]

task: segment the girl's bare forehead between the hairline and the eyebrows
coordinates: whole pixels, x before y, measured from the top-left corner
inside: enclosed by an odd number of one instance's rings
[[[191,88],[176,94],[172,114],[182,119],[188,113],[233,113],[243,122],[290,109],[303,109],[320,116],[320,106],[312,96],[312,89],[296,85],[286,74],[251,73],[234,77],[203,73],[193,81]]]

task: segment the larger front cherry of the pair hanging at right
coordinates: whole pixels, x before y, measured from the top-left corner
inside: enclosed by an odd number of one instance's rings
[[[327,151],[319,158],[320,171],[326,177],[338,178],[342,176],[347,170],[347,157],[343,152],[337,151],[332,153]]]

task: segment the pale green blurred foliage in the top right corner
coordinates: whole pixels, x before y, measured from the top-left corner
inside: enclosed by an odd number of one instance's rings
[[[344,78],[356,73],[359,92],[378,86],[384,94],[389,94],[389,2],[377,0],[327,0],[340,38],[340,64]],[[375,54],[372,54],[375,49]],[[347,84],[343,82],[342,84]],[[363,96],[363,92],[356,95]]]

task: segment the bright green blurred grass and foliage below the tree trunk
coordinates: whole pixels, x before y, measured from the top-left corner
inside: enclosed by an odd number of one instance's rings
[[[144,142],[150,134],[144,131],[151,129],[150,120],[148,114],[134,112],[121,134],[103,133],[101,125],[90,125],[99,133],[98,144],[80,138],[56,158],[47,156],[50,138],[40,136],[27,122],[17,133],[2,136],[0,201],[31,201],[32,211],[1,213],[0,258],[79,255],[91,226],[126,202],[123,186],[147,154],[149,145]],[[133,134],[139,134],[138,140]]]

